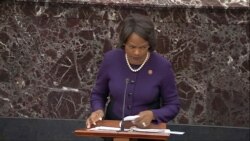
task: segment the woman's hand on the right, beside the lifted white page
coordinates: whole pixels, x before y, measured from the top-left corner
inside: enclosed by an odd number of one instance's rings
[[[146,128],[150,125],[151,121],[154,119],[154,114],[152,111],[142,111],[139,113],[138,118],[136,118],[133,123],[139,128]]]

